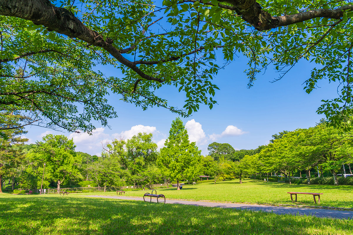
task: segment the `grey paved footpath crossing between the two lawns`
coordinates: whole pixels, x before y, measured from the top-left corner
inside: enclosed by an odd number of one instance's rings
[[[114,198],[114,199],[143,201],[143,198],[140,198],[140,197],[124,197],[124,196],[84,196],[84,197],[100,197],[100,198]],[[152,202],[153,200],[157,202],[156,198],[152,198]],[[166,199],[166,203],[272,212],[277,215],[291,214],[291,215],[316,216],[316,217],[322,217],[322,218],[353,219],[353,211],[344,211],[344,210],[296,208],[296,207],[251,205],[251,204],[238,204],[238,203],[184,201],[184,200],[170,200],[170,199]]]

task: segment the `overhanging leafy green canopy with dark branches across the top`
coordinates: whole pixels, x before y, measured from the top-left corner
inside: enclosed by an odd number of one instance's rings
[[[337,125],[353,112],[352,9],[348,0],[1,0],[0,105],[70,131],[117,116],[107,90],[188,116],[200,104],[213,107],[213,78],[244,55],[248,87],[270,65],[276,80],[300,60],[315,62],[298,84],[308,93],[322,79],[340,84],[339,97],[317,110]],[[106,78],[96,64],[122,75]],[[158,97],[163,86],[184,91],[184,107]]]

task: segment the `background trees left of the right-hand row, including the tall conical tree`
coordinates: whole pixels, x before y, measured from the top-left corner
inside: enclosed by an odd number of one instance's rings
[[[13,117],[16,117],[12,115]],[[11,116],[11,117],[12,117]],[[17,125],[14,123],[14,125]],[[172,122],[164,148],[159,152],[152,134],[139,133],[128,140],[115,139],[103,147],[100,157],[75,151],[73,140],[63,135],[47,135],[36,144],[25,145],[21,129],[7,130],[2,137],[1,176],[19,187],[124,186],[196,181],[199,175],[217,179],[241,177],[253,172],[248,167],[254,150],[235,151],[229,144],[212,143],[210,155],[203,157],[180,118]],[[7,140],[7,142],[5,141]],[[7,143],[4,144],[4,143]],[[238,155],[237,155],[238,154]],[[6,157],[10,156],[11,157]],[[234,161],[237,159],[239,161]],[[1,178],[0,178],[1,180]],[[1,183],[2,185],[2,183]],[[177,187],[179,188],[179,187]]]

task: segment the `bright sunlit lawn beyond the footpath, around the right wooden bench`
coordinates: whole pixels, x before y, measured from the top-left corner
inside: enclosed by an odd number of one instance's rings
[[[151,190],[149,190],[151,191]],[[142,197],[146,191],[127,191],[125,196]],[[287,192],[315,192],[321,195],[320,204],[315,204],[312,195],[298,194],[298,202],[292,203]],[[157,189],[157,194],[164,194],[169,199],[210,200],[220,202],[251,203],[251,204],[297,204],[320,205],[353,208],[353,186],[333,185],[297,185],[277,182],[264,183],[260,180],[222,181],[184,185],[182,190],[177,188]],[[92,194],[92,193],[90,193]],[[115,192],[93,193],[96,195],[116,195]],[[294,198],[293,198],[294,199]]]

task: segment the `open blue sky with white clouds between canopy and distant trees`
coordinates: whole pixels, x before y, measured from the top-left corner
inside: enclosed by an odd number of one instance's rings
[[[321,100],[337,96],[337,84],[328,84],[325,80],[319,84],[321,88],[311,94],[303,90],[302,84],[315,66],[305,61],[298,63],[282,80],[274,83],[270,81],[277,78],[278,74],[268,69],[265,74],[257,76],[254,87],[247,89],[243,72],[246,63],[243,57],[237,58],[217,74],[214,83],[220,90],[215,95],[218,104],[212,110],[208,106],[201,106],[191,117],[182,118],[190,141],[196,141],[203,155],[208,153],[208,144],[214,141],[229,143],[235,149],[253,149],[268,144],[271,135],[279,131],[314,126],[323,117],[316,113]],[[119,76],[119,71],[110,67],[101,66],[97,69],[106,76]],[[167,98],[169,105],[184,105],[185,94],[178,93],[175,87],[163,87],[158,94]],[[170,124],[177,115],[160,107],[143,111],[133,104],[122,102],[120,98],[114,94],[108,97],[119,116],[108,121],[111,129],[96,124],[96,131],[89,136],[32,126],[26,128],[26,137],[30,139],[29,143],[35,143],[46,134],[63,134],[73,138],[77,151],[100,154],[102,144],[112,138],[130,138],[138,132],[148,132],[154,135],[158,147],[162,147],[168,137]]]

